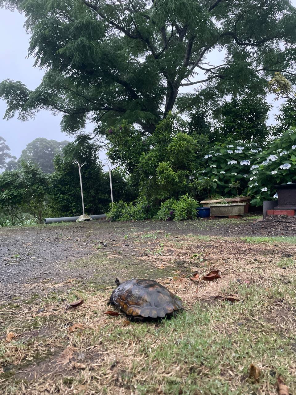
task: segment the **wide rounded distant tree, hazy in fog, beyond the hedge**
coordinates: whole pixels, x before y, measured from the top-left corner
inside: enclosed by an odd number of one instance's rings
[[[56,141],[38,137],[28,143],[26,148],[22,150],[18,163],[20,164],[22,161],[34,162],[44,173],[52,173],[54,171],[54,156],[58,153],[62,154],[62,150],[67,144],[69,144],[69,141],[66,140]]]

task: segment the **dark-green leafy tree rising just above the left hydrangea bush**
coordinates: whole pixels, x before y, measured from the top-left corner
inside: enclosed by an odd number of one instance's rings
[[[241,98],[233,97],[214,111],[215,141],[231,137],[234,141],[262,144],[269,134],[266,126],[270,105],[250,92]]]

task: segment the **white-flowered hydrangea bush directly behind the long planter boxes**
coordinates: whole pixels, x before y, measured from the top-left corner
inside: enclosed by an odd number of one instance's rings
[[[193,182],[210,180],[209,194],[229,198],[246,194],[249,179],[257,173],[252,167],[262,148],[256,143],[233,141],[231,138],[216,143],[204,156],[205,169],[197,172]]]

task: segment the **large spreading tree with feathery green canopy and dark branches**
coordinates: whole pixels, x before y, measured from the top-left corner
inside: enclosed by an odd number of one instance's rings
[[[2,3],[25,13],[29,55],[46,70],[35,90],[1,83],[7,119],[49,109],[64,114],[68,133],[87,120],[97,134],[127,120],[147,135],[173,109],[186,112],[246,88],[260,94],[275,71],[295,76],[296,9],[289,0]],[[195,92],[182,94],[188,86]]]

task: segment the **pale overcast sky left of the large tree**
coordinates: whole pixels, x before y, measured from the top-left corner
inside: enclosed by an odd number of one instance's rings
[[[296,0],[292,1],[296,5]],[[23,24],[25,18],[16,11],[11,12],[0,9],[0,81],[12,79],[21,81],[28,88],[36,88],[42,77],[43,71],[33,68],[34,59],[26,58],[29,47],[29,36]],[[217,56],[219,54],[217,53]],[[221,56],[221,55],[220,55]],[[50,111],[40,111],[34,120],[21,122],[17,118],[3,120],[6,103],[0,100],[0,136],[4,137],[11,149],[11,154],[19,157],[22,149],[37,137],[46,137],[58,141],[71,140],[71,137],[60,132],[61,116],[53,116]],[[273,121],[272,114],[270,122]],[[105,154],[101,154],[105,160]]]

